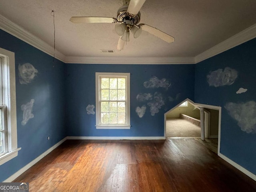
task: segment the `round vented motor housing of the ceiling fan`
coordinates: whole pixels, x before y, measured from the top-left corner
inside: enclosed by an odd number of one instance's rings
[[[130,15],[127,13],[128,5],[124,5],[120,7],[117,11],[117,20],[118,22],[123,22],[130,24],[130,22],[133,24],[138,24],[140,22],[140,12],[136,15]]]

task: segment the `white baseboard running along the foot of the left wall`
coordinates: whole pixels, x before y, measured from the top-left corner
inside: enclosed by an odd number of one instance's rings
[[[26,166],[22,167],[20,170],[18,170],[16,173],[14,173],[12,176],[4,180],[3,182],[12,182],[14,179],[16,179],[18,176],[20,176],[22,173],[24,173],[26,170],[28,170],[30,167],[32,167],[34,164],[36,164],[38,161],[40,161],[44,156],[46,156],[48,153],[50,153],[52,150],[57,148],[60,144],[62,144],[64,141],[66,141],[67,138],[65,137],[60,142],[56,143],[54,146],[46,150],[44,153],[42,153],[40,156],[35,158],[32,162],[27,164]]]

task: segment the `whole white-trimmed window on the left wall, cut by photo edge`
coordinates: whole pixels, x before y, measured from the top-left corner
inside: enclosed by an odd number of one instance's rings
[[[0,165],[18,155],[14,53],[0,48]]]

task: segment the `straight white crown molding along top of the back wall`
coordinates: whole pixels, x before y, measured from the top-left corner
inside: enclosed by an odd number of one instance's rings
[[[194,57],[66,57],[65,63],[79,64],[194,64]]]

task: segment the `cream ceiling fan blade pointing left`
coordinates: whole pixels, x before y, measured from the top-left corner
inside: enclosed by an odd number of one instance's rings
[[[70,21],[73,23],[114,23],[112,17],[71,17]]]

